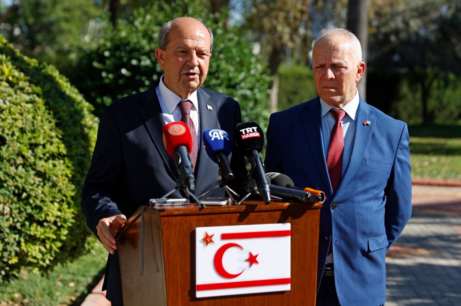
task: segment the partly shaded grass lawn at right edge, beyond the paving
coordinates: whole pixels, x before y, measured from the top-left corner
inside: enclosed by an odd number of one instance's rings
[[[410,126],[412,177],[461,180],[461,125]]]

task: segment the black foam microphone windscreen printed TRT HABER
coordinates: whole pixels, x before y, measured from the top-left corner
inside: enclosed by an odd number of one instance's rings
[[[256,122],[242,122],[236,125],[236,144],[240,150],[261,152],[264,148],[264,133]]]

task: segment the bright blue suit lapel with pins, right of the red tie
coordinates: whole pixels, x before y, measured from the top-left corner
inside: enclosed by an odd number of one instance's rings
[[[360,165],[362,156],[366,151],[366,146],[372,135],[376,125],[376,120],[373,118],[373,110],[360,98],[359,107],[357,109],[357,117],[355,118],[355,135],[354,143],[352,144],[352,153],[350,155],[349,164],[344,171],[343,178],[338,186],[339,192],[343,185],[346,185],[349,180],[354,177],[355,170]],[[364,121],[370,121],[369,125],[364,125]]]

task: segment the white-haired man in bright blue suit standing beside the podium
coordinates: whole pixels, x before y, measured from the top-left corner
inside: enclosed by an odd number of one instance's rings
[[[319,97],[271,115],[266,171],[325,191],[317,305],[383,305],[385,255],[411,215],[407,124],[361,99],[351,32],[322,30],[312,67]]]

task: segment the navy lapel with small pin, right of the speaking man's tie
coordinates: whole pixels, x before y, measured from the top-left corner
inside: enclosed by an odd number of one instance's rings
[[[197,100],[199,105],[199,118],[200,118],[200,131],[203,135],[203,131],[207,129],[219,129],[217,124],[217,107],[211,101],[210,95],[207,94],[201,88],[197,91]],[[210,106],[210,107],[208,107]],[[211,109],[210,109],[211,108]],[[207,152],[203,148],[203,137],[200,135],[200,144],[199,144],[199,156],[197,158],[197,163],[195,165],[195,189],[200,188],[201,182],[205,181],[205,175],[211,174],[218,176],[218,173],[210,173],[211,165],[213,161],[208,157]]]

